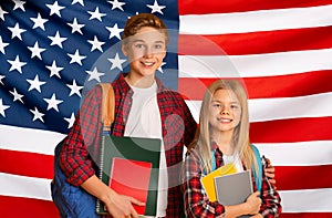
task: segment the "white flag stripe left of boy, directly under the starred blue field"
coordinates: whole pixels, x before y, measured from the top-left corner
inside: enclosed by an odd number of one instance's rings
[[[64,136],[55,132],[0,125],[0,148],[54,155],[56,144]]]

